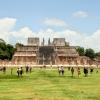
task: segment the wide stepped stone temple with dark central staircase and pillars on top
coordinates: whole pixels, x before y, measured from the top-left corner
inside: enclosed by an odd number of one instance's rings
[[[11,61],[4,61],[2,64],[13,66],[97,66],[100,61],[91,60],[86,56],[79,56],[75,46],[66,46],[65,38],[48,39],[45,45],[43,38],[28,38],[26,46],[20,46],[13,55]]]

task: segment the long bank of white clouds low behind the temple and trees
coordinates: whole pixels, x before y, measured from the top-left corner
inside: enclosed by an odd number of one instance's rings
[[[5,22],[5,20],[4,20]],[[8,21],[9,22],[9,21]],[[9,24],[9,29],[13,28],[13,25]],[[2,26],[0,25],[0,29]],[[65,38],[67,42],[70,43],[71,46],[82,46],[86,48],[92,48],[96,52],[100,51],[100,30],[97,30],[92,35],[87,35],[86,33],[79,33],[72,30],[63,30],[63,31],[53,31],[52,29],[40,30],[38,33],[31,31],[28,27],[24,27],[19,31],[8,31],[8,28],[3,28],[4,31],[0,30],[0,38],[4,39],[6,43],[16,44],[17,42],[23,43],[27,45],[28,37],[39,37],[40,41],[45,39],[45,44],[48,43],[48,39],[50,38],[51,42],[53,38]]]

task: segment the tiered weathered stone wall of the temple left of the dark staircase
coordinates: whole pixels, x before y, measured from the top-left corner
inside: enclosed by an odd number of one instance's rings
[[[21,46],[13,55],[12,62],[15,65],[37,64],[36,52],[38,46]]]

